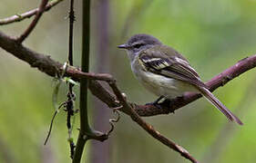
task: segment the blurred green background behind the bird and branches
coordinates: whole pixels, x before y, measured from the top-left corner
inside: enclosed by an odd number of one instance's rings
[[[0,18],[24,13],[39,3],[38,0],[1,0]],[[75,7],[75,65],[79,66],[81,1],[76,1]],[[65,0],[44,14],[26,39],[26,46],[66,62],[68,8],[69,1]],[[95,0],[91,8],[91,72],[113,74],[129,101],[146,103],[156,98],[141,87],[130,71],[126,53],[117,49],[132,34],[152,34],[174,47],[189,59],[205,82],[256,52],[255,0]],[[0,26],[0,30],[16,36],[31,20]],[[0,162],[70,162],[64,111],[57,115],[51,138],[43,145],[54,113],[52,78],[3,49],[0,49],[0,74]],[[145,120],[188,149],[200,162],[254,163],[255,80],[253,69],[214,92],[241,118],[242,127],[228,123],[204,99],[190,103],[175,114]],[[65,101],[66,94],[67,87],[63,84],[59,102]],[[91,95],[89,101],[92,126],[102,131],[109,129],[111,110]],[[75,125],[77,139],[78,116]],[[83,162],[189,162],[148,136],[125,114],[106,142],[92,141],[85,150]]]

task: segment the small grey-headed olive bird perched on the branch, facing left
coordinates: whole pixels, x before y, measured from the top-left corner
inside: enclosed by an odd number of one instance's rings
[[[164,45],[148,34],[133,35],[127,43],[118,45],[125,49],[138,81],[159,96],[153,104],[163,98],[173,99],[182,96],[186,91],[200,92],[211,104],[219,109],[229,120],[242,122],[228,110],[200,80],[189,62],[180,53]]]

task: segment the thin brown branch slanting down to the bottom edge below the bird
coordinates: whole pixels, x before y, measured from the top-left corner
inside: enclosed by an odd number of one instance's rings
[[[118,100],[123,105],[123,109],[128,110],[130,118],[132,120],[134,120],[135,122],[137,122],[138,125],[142,129],[145,129],[149,135],[151,135],[155,139],[158,139],[161,143],[168,146],[170,149],[173,149],[173,150],[179,152],[179,154],[182,157],[188,158],[193,163],[199,163],[199,161],[197,161],[195,158],[193,158],[186,149],[183,149],[181,146],[176,144],[174,141],[165,138],[163,135],[161,135],[159,133],[159,131],[153,129],[153,127],[151,125],[149,125],[146,121],[142,120],[139,117],[138,113],[132,109],[132,107],[128,104],[126,99],[123,97],[121,91],[119,91],[118,86],[115,82],[109,83],[109,86],[112,88],[112,90],[118,97]]]

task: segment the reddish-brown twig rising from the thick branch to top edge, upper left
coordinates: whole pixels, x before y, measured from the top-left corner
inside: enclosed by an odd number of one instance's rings
[[[36,27],[37,22],[39,21],[41,15],[45,11],[46,4],[48,3],[48,0],[42,0],[41,4],[39,5],[38,11],[36,11],[36,16],[33,19],[32,23],[29,24],[29,26],[26,28],[25,32],[21,34],[17,39],[17,43],[22,43],[26,37],[33,31],[33,29]]]

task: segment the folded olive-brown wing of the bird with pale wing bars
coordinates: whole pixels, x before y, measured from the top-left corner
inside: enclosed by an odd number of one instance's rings
[[[149,72],[206,87],[189,62],[168,46],[161,45],[142,51],[139,53],[139,60]]]

